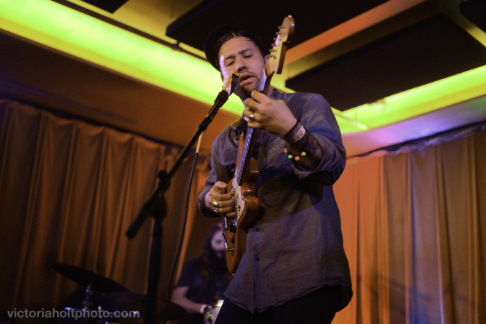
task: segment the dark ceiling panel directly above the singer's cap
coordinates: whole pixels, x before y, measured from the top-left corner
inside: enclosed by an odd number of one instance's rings
[[[222,24],[233,24],[258,35],[269,49],[274,33],[287,15],[296,22],[296,33],[289,48],[366,12],[387,0],[344,1],[259,1],[246,0],[244,5],[228,1],[205,0],[167,26],[167,36],[202,49],[206,35]]]

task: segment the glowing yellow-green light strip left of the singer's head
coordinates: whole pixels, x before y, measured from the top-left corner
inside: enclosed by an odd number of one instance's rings
[[[0,0],[0,28],[208,105],[221,90],[203,60],[53,1]],[[222,109],[239,115],[242,103],[231,96]]]

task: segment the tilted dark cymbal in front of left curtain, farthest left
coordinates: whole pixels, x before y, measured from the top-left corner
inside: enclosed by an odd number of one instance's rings
[[[114,291],[130,291],[123,284],[94,273],[92,271],[78,268],[77,266],[70,266],[69,264],[56,263],[52,265],[52,268],[65,276],[66,278],[81,284],[82,286],[88,286],[91,284],[93,291],[99,291],[102,293],[110,293]]]

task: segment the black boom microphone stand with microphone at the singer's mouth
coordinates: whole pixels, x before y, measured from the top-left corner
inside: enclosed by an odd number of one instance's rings
[[[221,108],[224,103],[228,100],[229,96],[237,87],[239,86],[238,77],[233,74],[231,80],[231,88],[228,92],[225,89],[221,90],[215,99],[215,103],[212,108],[206,114],[206,117],[199,124],[196,132],[192,135],[192,138],[183,148],[181,153],[178,155],[176,162],[171,167],[167,173],[164,170],[158,171],[158,185],[156,189],[149,196],[149,199],[140,208],[135,220],[131,223],[126,230],[126,236],[128,238],[133,238],[137,234],[137,231],[143,225],[145,219],[152,216],[154,219],[152,228],[152,241],[150,248],[150,259],[149,259],[149,275],[148,275],[148,285],[147,288],[147,298],[146,298],[146,314],[144,323],[152,324],[155,323],[156,315],[156,300],[157,300],[157,286],[160,275],[160,257],[162,252],[162,221],[167,213],[167,205],[165,203],[165,191],[169,188],[170,181],[174,173],[181,165],[187,153],[190,151],[196,139],[203,133],[206,128],[208,128],[212,119],[215,118],[216,113],[219,108]],[[170,288],[169,288],[170,289]]]

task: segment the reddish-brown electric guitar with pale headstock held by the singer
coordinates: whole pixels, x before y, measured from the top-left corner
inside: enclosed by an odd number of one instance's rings
[[[267,94],[271,77],[282,72],[285,51],[289,38],[294,33],[294,18],[287,16],[279,26],[265,65],[265,84],[260,91]],[[221,229],[226,241],[226,264],[235,273],[246,246],[246,233],[258,217],[260,200],[255,196],[255,181],[258,177],[257,161],[251,157],[255,146],[257,129],[248,128],[242,133],[236,158],[236,170],[230,181],[231,193],[235,204],[235,216],[224,217]]]

